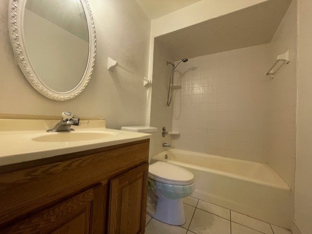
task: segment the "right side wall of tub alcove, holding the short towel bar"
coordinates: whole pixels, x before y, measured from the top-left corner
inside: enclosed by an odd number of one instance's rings
[[[290,50],[290,63],[283,65],[270,82],[269,153],[267,160],[274,171],[292,188],[293,202],[297,94],[297,0],[292,0],[269,48],[270,64],[276,61],[278,54]],[[289,206],[293,210],[293,203]]]

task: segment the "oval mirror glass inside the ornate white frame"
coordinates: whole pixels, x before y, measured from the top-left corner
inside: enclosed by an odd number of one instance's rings
[[[27,54],[42,82],[59,92],[74,89],[89,52],[80,0],[27,0],[24,36]]]

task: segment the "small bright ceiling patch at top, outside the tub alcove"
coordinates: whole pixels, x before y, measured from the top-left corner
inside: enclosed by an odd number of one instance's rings
[[[148,18],[155,19],[200,0],[136,0]]]

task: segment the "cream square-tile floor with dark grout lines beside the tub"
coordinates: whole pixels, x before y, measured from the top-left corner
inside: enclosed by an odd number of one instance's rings
[[[186,223],[173,226],[146,215],[145,234],[292,234],[289,230],[229,209],[184,198]]]

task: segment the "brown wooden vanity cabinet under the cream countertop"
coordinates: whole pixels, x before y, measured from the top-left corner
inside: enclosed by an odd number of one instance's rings
[[[149,140],[0,166],[0,234],[143,234]]]

